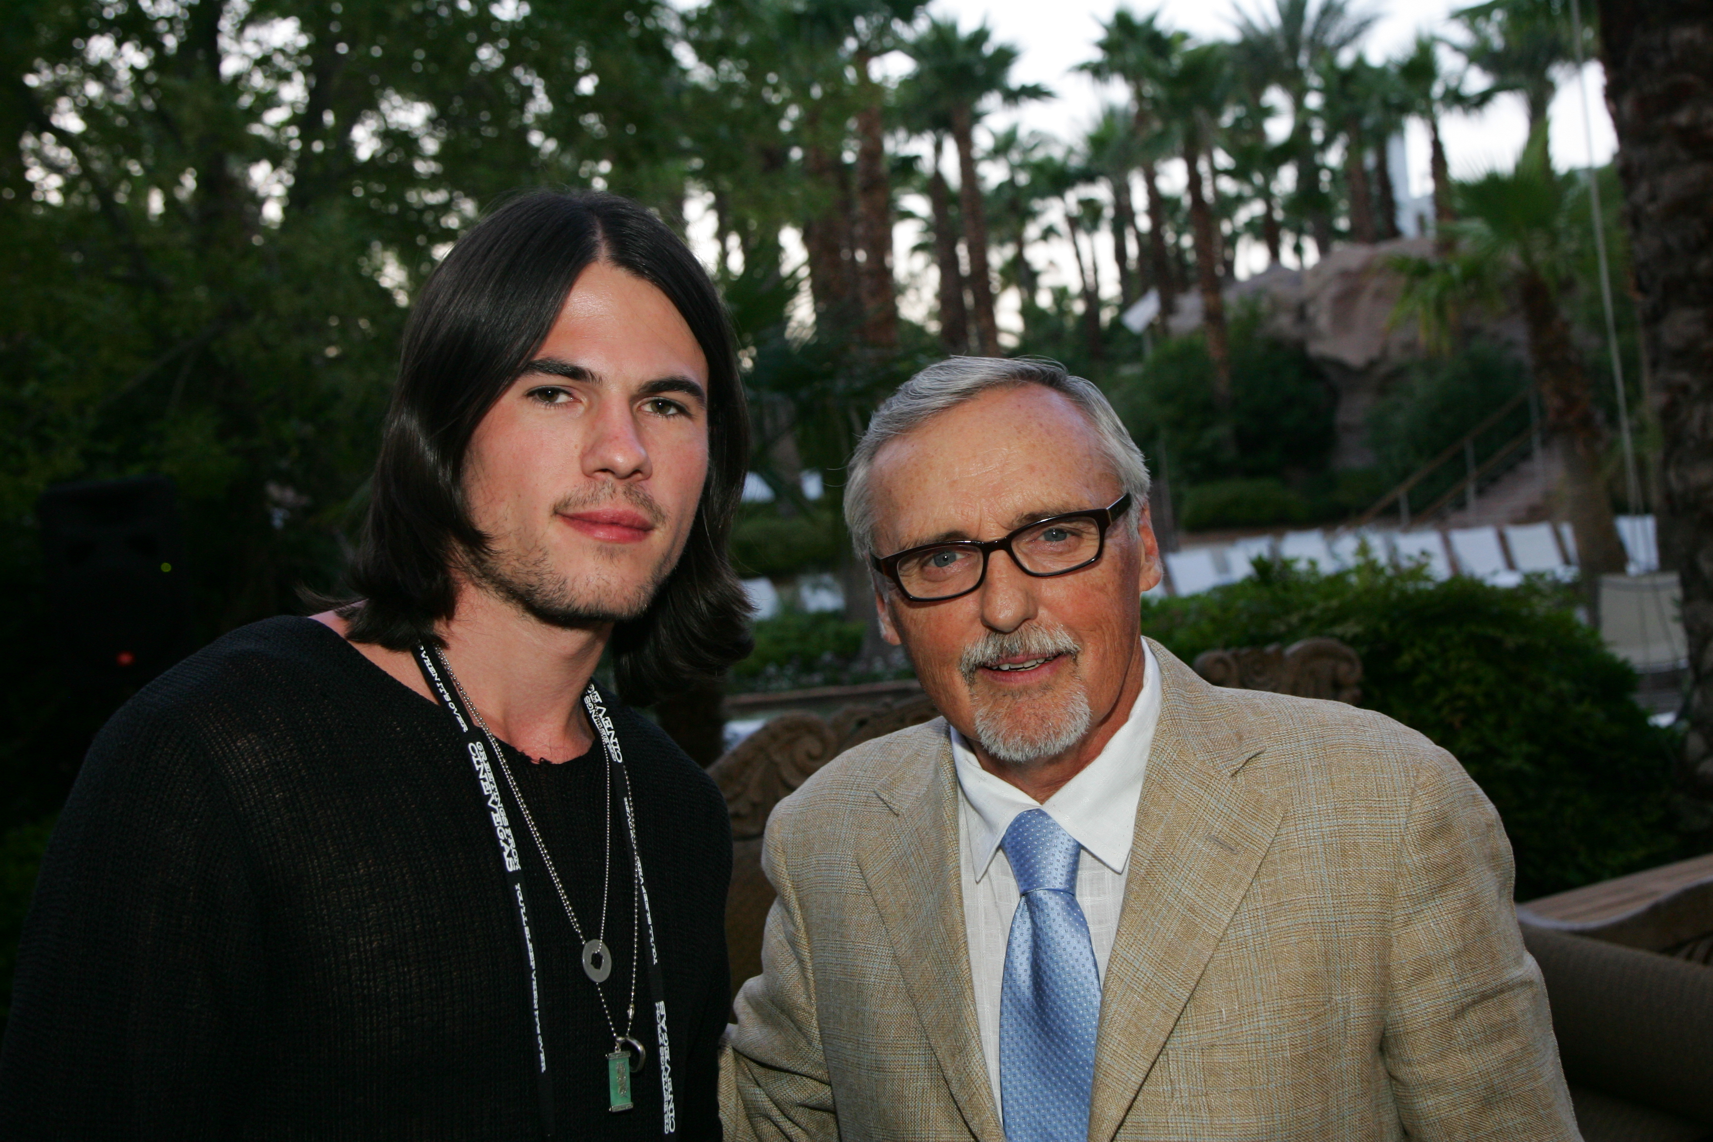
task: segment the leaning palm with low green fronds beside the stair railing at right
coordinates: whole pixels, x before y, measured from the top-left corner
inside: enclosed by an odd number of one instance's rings
[[[1461,221],[1451,224],[1451,255],[1393,265],[1405,274],[1398,313],[1415,315],[1429,344],[1444,344],[1470,303],[1519,305],[1547,428],[1561,445],[1578,562],[1593,589],[1598,575],[1622,572],[1627,560],[1602,478],[1605,426],[1561,298],[1571,276],[1564,233],[1579,224],[1569,199],[1547,158],[1547,132],[1537,130],[1516,170],[1458,185]]]

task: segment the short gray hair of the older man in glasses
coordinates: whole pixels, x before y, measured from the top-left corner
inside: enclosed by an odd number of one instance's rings
[[[1042,385],[1062,392],[1076,404],[1100,440],[1107,459],[1124,490],[1136,498],[1136,515],[1148,503],[1148,462],[1143,450],[1131,440],[1124,421],[1112,411],[1105,394],[1091,382],[1072,377],[1057,361],[1038,358],[952,356],[930,365],[889,396],[868,419],[868,431],[856,442],[845,478],[845,526],[851,532],[856,558],[877,555],[874,550],[874,498],[868,490],[868,469],[875,454],[889,442],[915,431],[925,421],[947,409],[973,401],[994,389]]]

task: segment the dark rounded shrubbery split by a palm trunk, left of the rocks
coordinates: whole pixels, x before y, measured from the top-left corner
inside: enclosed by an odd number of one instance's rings
[[[1309,356],[1266,334],[1256,308],[1230,327],[1232,409],[1213,401],[1213,361],[1199,334],[1168,337],[1108,397],[1146,452],[1161,445],[1172,479],[1206,483],[1319,473],[1336,430],[1334,394]],[[1227,442],[1235,440],[1235,452]]]

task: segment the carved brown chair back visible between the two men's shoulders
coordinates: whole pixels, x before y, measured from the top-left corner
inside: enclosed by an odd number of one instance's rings
[[[927,695],[846,705],[833,717],[779,714],[707,767],[731,812],[731,892],[726,897],[731,995],[745,979],[761,974],[761,935],[774,897],[761,871],[761,839],[773,806],[853,745],[937,716]]]

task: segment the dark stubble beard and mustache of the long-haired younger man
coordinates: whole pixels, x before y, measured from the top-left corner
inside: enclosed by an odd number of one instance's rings
[[[553,515],[608,507],[615,502],[641,512],[656,527],[666,520],[666,512],[641,488],[569,495],[553,505]],[[612,565],[617,560],[608,560],[605,568],[598,563],[579,568],[581,574],[572,577],[553,565],[552,550],[538,532],[529,538],[493,536],[486,550],[469,551],[464,562],[469,579],[478,587],[536,622],[550,627],[594,627],[641,618],[678,565],[682,553],[682,544],[675,551],[665,551],[642,579],[620,579]],[[594,560],[601,560],[603,555],[598,550]]]

